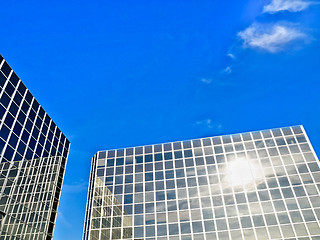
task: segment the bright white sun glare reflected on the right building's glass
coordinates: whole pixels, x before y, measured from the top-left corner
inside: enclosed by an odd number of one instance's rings
[[[226,170],[228,183],[235,187],[253,184],[262,175],[262,171],[245,158],[232,161]]]

